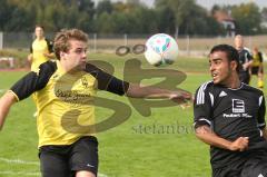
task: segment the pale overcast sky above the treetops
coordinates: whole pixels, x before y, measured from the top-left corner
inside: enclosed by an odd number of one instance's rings
[[[101,1],[101,0],[95,0]],[[123,0],[111,0],[111,1],[123,1]],[[144,3],[148,4],[149,7],[152,6],[154,0],[141,0]],[[267,0],[196,0],[198,4],[210,9],[215,3],[217,4],[238,4],[238,3],[247,3],[247,2],[255,2],[258,7],[267,7]]]

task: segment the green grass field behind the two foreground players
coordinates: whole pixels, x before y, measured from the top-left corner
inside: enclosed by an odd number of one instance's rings
[[[89,59],[111,63],[115,67],[115,75],[123,78],[123,63],[134,57],[136,56],[119,58],[113,55],[91,55]],[[138,58],[145,69],[156,69],[148,66],[142,57]],[[208,62],[205,59],[181,58],[170,68],[187,73],[186,80],[179,87],[191,92],[201,82],[209,80]],[[0,95],[24,73],[0,71]],[[155,80],[146,82],[155,83]],[[107,92],[99,92],[99,96],[130,106],[125,97]],[[32,117],[34,110],[31,98],[12,107],[0,132],[0,177],[40,176],[36,118]],[[152,108],[150,117],[142,117],[134,107],[131,110],[131,117],[126,122],[97,135],[100,177],[210,176],[209,148],[195,138],[191,129],[192,107]],[[110,110],[97,108],[97,117],[100,119],[107,118],[110,114]],[[168,127],[175,127],[175,130],[168,131]]]

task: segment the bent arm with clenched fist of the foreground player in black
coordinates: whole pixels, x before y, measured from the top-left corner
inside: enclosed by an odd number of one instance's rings
[[[248,138],[240,137],[235,141],[229,141],[219,137],[211,130],[212,111],[214,111],[214,95],[210,82],[201,85],[195,95],[194,99],[194,127],[196,137],[201,141],[218,148],[229,150],[244,150],[248,146]]]

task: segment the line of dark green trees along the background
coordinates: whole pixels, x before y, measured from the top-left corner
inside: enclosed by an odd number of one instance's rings
[[[79,28],[88,33],[157,33],[190,36],[225,35],[214,12],[222,10],[235,19],[237,32],[266,33],[267,8],[255,3],[214,6],[207,10],[195,0],[156,0],[148,8],[138,0],[127,3],[102,0],[0,0],[0,31],[31,32],[42,24],[46,31]]]

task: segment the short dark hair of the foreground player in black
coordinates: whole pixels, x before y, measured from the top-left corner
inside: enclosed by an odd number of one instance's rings
[[[216,51],[222,51],[226,53],[228,61],[236,61],[237,62],[237,72],[240,70],[240,63],[239,63],[239,55],[238,51],[229,45],[217,45],[214,46],[210,50],[209,55],[216,52]]]

